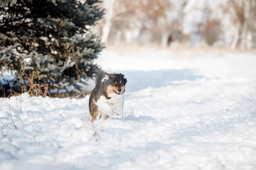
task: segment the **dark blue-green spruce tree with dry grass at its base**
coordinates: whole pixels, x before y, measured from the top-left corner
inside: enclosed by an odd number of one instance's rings
[[[38,86],[44,91],[46,85],[79,89],[92,77],[99,69],[93,60],[103,48],[89,29],[103,15],[97,3],[0,0],[0,71],[4,68],[16,77],[5,92],[11,92],[10,86],[15,92],[31,92]]]

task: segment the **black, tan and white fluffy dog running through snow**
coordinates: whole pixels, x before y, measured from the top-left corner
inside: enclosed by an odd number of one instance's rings
[[[125,75],[121,73],[108,74],[102,70],[96,73],[96,85],[89,99],[91,122],[96,120],[99,113],[99,119],[120,114],[126,82]]]

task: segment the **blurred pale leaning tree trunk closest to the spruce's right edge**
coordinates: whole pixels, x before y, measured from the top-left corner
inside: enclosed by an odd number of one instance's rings
[[[111,23],[112,23],[112,18],[113,18],[113,13],[114,13],[114,4],[115,0],[104,0],[105,3],[105,8],[106,14],[105,14],[105,23],[102,28],[102,42],[106,42],[108,40],[110,28],[111,28]]]

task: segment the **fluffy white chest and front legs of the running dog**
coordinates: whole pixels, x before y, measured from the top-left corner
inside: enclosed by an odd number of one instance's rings
[[[120,94],[108,95],[111,99],[106,99],[105,96],[101,96],[95,103],[98,106],[100,112],[112,116],[114,114],[120,114],[122,108],[122,97]]]

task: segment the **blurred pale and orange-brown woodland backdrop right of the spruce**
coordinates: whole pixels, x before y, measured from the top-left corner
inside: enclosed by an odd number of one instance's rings
[[[107,45],[256,47],[256,0],[103,0]]]

